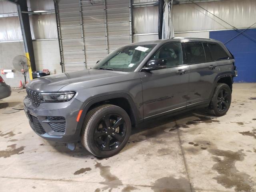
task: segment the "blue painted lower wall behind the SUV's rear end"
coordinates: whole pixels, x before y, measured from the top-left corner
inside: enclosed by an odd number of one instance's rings
[[[226,43],[238,33],[235,30],[212,31],[210,38]],[[240,34],[225,45],[234,55],[238,68],[238,77],[234,78],[234,81],[256,82],[256,29],[248,29],[245,34],[254,39]]]

